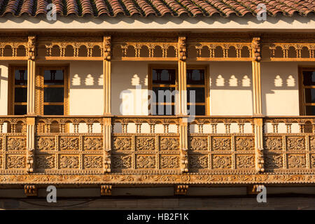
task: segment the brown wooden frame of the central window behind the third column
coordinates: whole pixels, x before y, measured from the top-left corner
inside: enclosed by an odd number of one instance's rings
[[[175,69],[176,71],[176,82],[175,89],[179,89],[179,66],[178,64],[149,64],[148,65],[148,90],[153,90],[153,87],[166,87],[165,84],[154,84],[153,85],[153,69]],[[186,65],[186,69],[204,69],[204,103],[195,103],[195,105],[204,105],[205,111],[204,116],[210,115],[210,90],[209,90],[209,65],[208,64],[188,64]],[[200,87],[201,85],[186,85],[186,87]],[[167,87],[172,87],[171,85],[167,85]],[[148,101],[150,96],[148,95]],[[164,103],[167,104],[167,103]],[[176,106],[176,99],[175,99]],[[187,106],[190,103],[187,102]],[[150,105],[149,105],[150,106]],[[148,114],[151,115],[151,109],[148,106]]]

